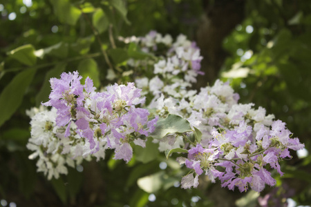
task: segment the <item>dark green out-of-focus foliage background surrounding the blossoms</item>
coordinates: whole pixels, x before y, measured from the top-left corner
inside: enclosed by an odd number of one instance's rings
[[[68,175],[52,181],[36,172],[26,149],[26,110],[48,99],[48,79],[79,70],[106,86],[111,82],[102,51],[117,62],[109,37],[122,48],[117,37],[150,30],[197,42],[205,76],[196,89],[229,81],[241,103],[263,106],[305,144],[281,163],[285,175],[275,175],[275,188],[239,193],[202,180],[198,189],[183,190],[178,181],[187,170],[151,143],[129,164],[107,152],[105,160],[68,168]],[[0,92],[0,206],[311,204],[309,0],[2,0]]]

